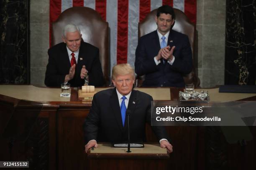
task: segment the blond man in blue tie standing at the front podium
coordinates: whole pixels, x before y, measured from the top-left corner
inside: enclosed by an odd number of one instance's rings
[[[128,121],[125,115],[130,110],[130,141],[146,140],[145,124],[151,124],[151,101],[153,98],[138,90],[133,90],[134,70],[129,64],[115,65],[112,70],[115,88],[97,92],[92,107],[84,121],[85,152],[97,148],[97,142],[122,143],[128,141]],[[126,109],[127,108],[127,109]],[[161,126],[151,126],[161,148],[172,152],[172,145],[166,130]]]

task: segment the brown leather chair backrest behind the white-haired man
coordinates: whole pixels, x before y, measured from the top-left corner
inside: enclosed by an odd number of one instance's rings
[[[100,14],[89,7],[71,7],[61,13],[52,24],[52,45],[62,42],[62,29],[69,23],[80,28],[84,42],[99,48],[103,76],[108,83],[110,65],[108,22],[102,20]]]

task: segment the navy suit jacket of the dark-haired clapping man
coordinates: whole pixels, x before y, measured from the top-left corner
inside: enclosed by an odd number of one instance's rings
[[[167,45],[175,46],[174,63],[170,65],[161,61],[156,65],[154,57],[160,47],[157,31],[144,35],[136,48],[135,72],[146,75],[143,86],[184,87],[183,75],[192,70],[192,51],[187,35],[170,30]]]

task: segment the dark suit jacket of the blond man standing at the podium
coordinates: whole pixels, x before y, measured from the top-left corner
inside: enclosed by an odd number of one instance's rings
[[[130,114],[131,142],[146,141],[145,124],[151,124],[152,97],[144,92],[132,90],[127,110]],[[120,105],[116,88],[97,92],[92,100],[92,107],[84,121],[85,143],[90,140],[97,142],[125,142],[128,141],[127,117],[125,126],[122,124]],[[161,126],[151,127],[156,137],[169,140],[166,130]],[[170,140],[169,140],[170,141]]]

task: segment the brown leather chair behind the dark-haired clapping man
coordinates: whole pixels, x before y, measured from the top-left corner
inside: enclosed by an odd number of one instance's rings
[[[155,21],[156,11],[157,9],[152,10],[146,16],[146,18],[144,18],[144,20],[138,23],[138,38],[157,29]],[[174,13],[176,19],[172,29],[183,34],[186,34],[189,37],[189,42],[192,49],[192,56],[194,56],[195,26],[193,23],[189,21],[187,16],[181,10],[174,8]],[[183,78],[185,84],[194,83],[195,87],[200,85],[200,79],[196,76],[194,67],[193,70],[189,74],[184,75]]]

